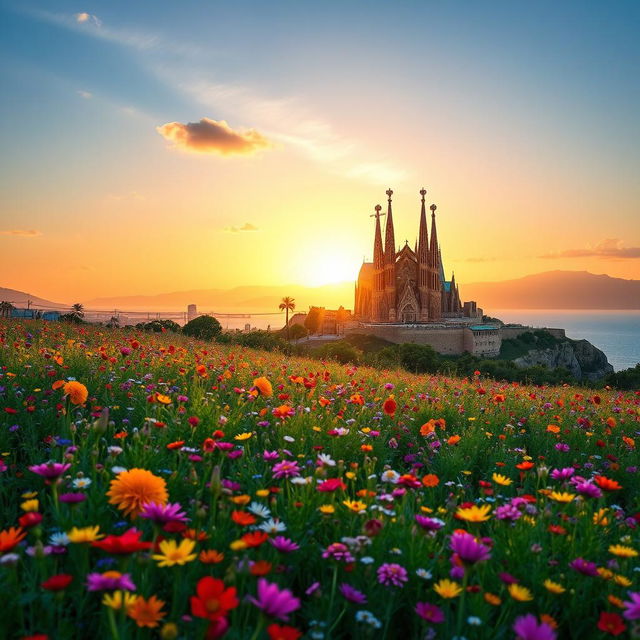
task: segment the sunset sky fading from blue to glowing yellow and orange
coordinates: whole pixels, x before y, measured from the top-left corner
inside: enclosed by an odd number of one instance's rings
[[[640,278],[640,3],[0,0],[0,286]],[[286,292],[283,293],[286,295]]]

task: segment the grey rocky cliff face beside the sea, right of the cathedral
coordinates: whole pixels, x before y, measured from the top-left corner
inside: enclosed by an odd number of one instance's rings
[[[564,367],[577,380],[599,380],[613,372],[607,356],[587,340],[558,340],[544,349],[531,349],[515,358],[518,367],[544,365],[549,369]]]

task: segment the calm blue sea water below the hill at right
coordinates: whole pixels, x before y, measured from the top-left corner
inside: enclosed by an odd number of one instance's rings
[[[604,351],[616,371],[640,362],[640,311],[493,309],[490,315],[503,322],[565,329],[568,338],[584,338]]]

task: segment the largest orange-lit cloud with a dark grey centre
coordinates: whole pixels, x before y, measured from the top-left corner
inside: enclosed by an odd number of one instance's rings
[[[227,155],[252,155],[273,144],[255,129],[235,131],[224,120],[202,118],[200,122],[169,122],[156,131],[185,151]]]

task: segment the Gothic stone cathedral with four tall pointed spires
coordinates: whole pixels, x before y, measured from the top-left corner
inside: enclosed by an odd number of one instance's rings
[[[391,189],[387,190],[384,245],[380,218],[385,214],[380,213],[380,205],[375,207],[373,262],[363,262],[355,290],[355,316],[360,322],[421,324],[465,315],[455,276],[445,279],[435,204],[429,207],[431,236],[427,231],[426,194],[420,191],[420,229],[414,249],[408,242],[396,249]]]

